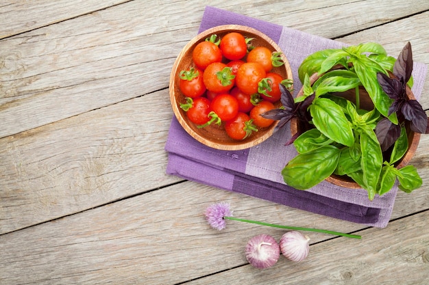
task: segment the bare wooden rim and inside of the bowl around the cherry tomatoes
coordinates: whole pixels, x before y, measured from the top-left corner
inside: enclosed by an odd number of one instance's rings
[[[186,103],[185,96],[180,92],[178,74],[181,70],[186,70],[190,66],[193,66],[192,51],[195,46],[210,37],[212,34],[216,34],[219,37],[223,37],[226,33],[236,31],[241,33],[243,36],[248,38],[254,38],[252,44],[254,46],[265,46],[271,51],[282,52],[278,44],[275,44],[268,36],[260,31],[251,27],[245,27],[241,25],[222,25],[208,29],[202,33],[199,33],[193,38],[180,52],[175,60],[173,69],[171,70],[170,77],[170,100],[171,107],[179,123],[182,125],[184,130],[191,135],[197,141],[210,146],[210,148],[216,148],[219,150],[243,150],[245,148],[251,148],[260,144],[262,141],[268,139],[274,131],[274,128],[278,121],[273,122],[271,126],[267,128],[259,128],[257,132],[253,132],[252,135],[243,140],[234,140],[228,137],[227,133],[223,129],[223,126],[210,125],[204,128],[197,128],[193,122],[190,122],[186,116],[186,112],[180,108],[180,103]],[[277,72],[282,75],[284,79],[292,79],[292,70],[289,65],[286,56],[282,53],[282,59],[284,62],[283,66],[273,68],[273,72]],[[280,106],[280,102],[276,107]]]

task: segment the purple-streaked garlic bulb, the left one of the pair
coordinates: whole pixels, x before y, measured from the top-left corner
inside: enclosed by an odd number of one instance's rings
[[[272,236],[259,234],[246,245],[246,259],[254,267],[265,269],[272,267],[280,257],[280,247]]]

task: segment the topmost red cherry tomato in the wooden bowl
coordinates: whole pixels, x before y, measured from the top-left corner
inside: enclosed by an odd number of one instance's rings
[[[247,42],[241,33],[227,33],[219,47],[223,56],[230,60],[242,59],[247,53]]]

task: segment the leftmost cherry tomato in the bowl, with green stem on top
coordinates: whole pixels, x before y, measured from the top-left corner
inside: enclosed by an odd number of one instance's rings
[[[201,70],[191,68],[182,70],[179,74],[180,91],[186,97],[197,98],[206,92],[206,85],[203,81],[203,72]]]

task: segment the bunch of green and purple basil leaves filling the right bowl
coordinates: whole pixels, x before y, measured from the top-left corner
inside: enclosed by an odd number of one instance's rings
[[[298,70],[303,96],[293,98],[281,86],[282,107],[263,114],[280,120],[278,127],[291,118],[306,126],[287,143],[294,144],[298,155],[282,169],[286,184],[309,189],[332,174],[348,176],[367,190],[369,200],[390,191],[396,180],[407,193],[419,188],[422,180],[414,166],[395,168],[408,150],[406,124],[429,133],[426,113],[406,96],[412,69],[409,43],[397,59],[373,42],[326,49],[304,59]],[[310,84],[314,73],[319,79]],[[372,109],[360,107],[362,88]],[[354,100],[339,96],[350,90]]]

